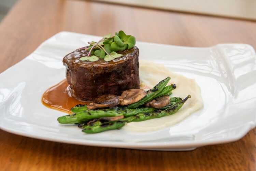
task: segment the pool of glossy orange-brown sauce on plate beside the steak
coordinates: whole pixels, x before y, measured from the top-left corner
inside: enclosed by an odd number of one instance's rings
[[[89,102],[83,102],[76,100],[69,96],[67,80],[62,80],[58,84],[48,88],[43,96],[42,103],[48,108],[59,110],[65,113],[71,113],[70,109],[77,104],[89,104]]]

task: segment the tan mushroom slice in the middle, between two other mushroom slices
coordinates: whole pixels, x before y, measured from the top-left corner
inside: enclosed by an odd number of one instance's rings
[[[128,105],[135,103],[146,96],[146,91],[143,89],[130,89],[126,90],[119,97],[120,105]]]

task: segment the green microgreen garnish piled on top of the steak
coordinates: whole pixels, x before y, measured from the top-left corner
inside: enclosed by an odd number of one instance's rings
[[[105,61],[110,61],[123,56],[116,52],[131,49],[136,43],[135,37],[126,35],[122,30],[118,33],[116,32],[113,37],[111,35],[111,33],[104,35],[98,42],[88,42],[89,46],[81,48],[89,51],[88,55],[87,57],[81,57],[80,60],[93,62],[104,59]]]

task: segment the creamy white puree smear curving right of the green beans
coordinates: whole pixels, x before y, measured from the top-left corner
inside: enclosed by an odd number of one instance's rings
[[[139,73],[141,83],[150,88],[154,87],[159,81],[170,76],[171,80],[169,83],[176,84],[177,86],[177,88],[172,91],[171,96],[184,99],[187,95],[191,95],[191,98],[188,99],[182,108],[173,115],[142,122],[131,122],[126,124],[122,129],[134,132],[156,131],[181,122],[191,113],[202,108],[203,101],[200,87],[194,79],[188,79],[182,75],[175,74],[161,64],[143,60],[140,61]]]

